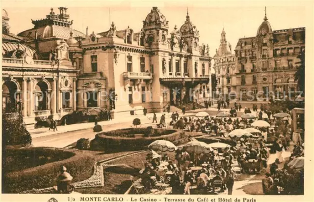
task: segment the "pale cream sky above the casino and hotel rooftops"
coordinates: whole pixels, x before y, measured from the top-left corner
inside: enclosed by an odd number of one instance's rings
[[[257,29],[263,22],[265,7],[267,18],[273,30],[299,28],[309,25],[307,7],[305,4],[280,1],[277,4],[265,5],[263,2],[252,1],[34,1],[31,4],[24,1],[2,1],[9,15],[10,32],[18,34],[33,28],[31,19],[46,18],[51,7],[59,13],[58,7],[68,7],[67,14],[73,20],[73,29],[91,34],[109,29],[109,21],[113,21],[117,30],[128,26],[135,32],[143,27],[143,20],[150,13],[153,6],[169,21],[169,33],[177,25],[180,28],[186,18],[188,9],[190,21],[200,32],[200,45],[209,44],[209,53],[213,57],[220,44],[221,31],[226,31],[227,41],[235,49],[239,38],[256,36]],[[269,2],[269,1],[268,1]],[[270,1],[271,2],[271,1]],[[275,1],[274,1],[275,2]],[[269,4],[269,3],[268,3]],[[110,15],[109,15],[110,8]],[[312,16],[313,17],[313,16]],[[110,20],[109,20],[110,18]]]

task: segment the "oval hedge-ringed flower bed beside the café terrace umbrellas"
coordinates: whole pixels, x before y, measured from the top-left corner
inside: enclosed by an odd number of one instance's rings
[[[156,140],[167,140],[174,142],[184,138],[184,133],[178,130],[151,128],[149,128],[149,130],[154,131],[153,135],[146,137],[146,130],[146,128],[128,128],[101,133],[96,135],[95,140],[91,143],[91,148],[93,149],[93,145],[97,145],[98,148],[102,148],[105,151],[141,150],[146,149],[149,144]],[[142,137],[137,137],[135,134],[144,135]],[[130,135],[134,135],[134,137],[130,137]]]

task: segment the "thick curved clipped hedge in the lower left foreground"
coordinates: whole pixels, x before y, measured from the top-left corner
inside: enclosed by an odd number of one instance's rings
[[[47,149],[47,153],[55,150],[71,152],[74,156],[42,166],[29,168],[26,170],[15,171],[11,173],[2,173],[2,193],[21,193],[26,190],[52,187],[55,184],[54,179],[59,173],[60,167],[65,166],[67,172],[73,176],[73,182],[81,181],[81,176],[85,173],[89,175],[93,172],[95,159],[92,155],[82,151],[55,149],[55,148],[26,148],[21,151]]]

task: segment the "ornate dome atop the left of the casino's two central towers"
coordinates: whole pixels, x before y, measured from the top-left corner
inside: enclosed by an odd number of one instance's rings
[[[160,13],[157,7],[153,7],[151,12],[146,16],[145,21],[143,21],[143,27],[149,26],[165,26],[168,27],[168,21],[166,17]]]

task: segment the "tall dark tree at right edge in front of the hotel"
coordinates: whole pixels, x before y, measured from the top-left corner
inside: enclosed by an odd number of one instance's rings
[[[294,79],[297,81],[298,87],[302,91],[302,96],[305,96],[305,50],[301,51],[297,58],[301,61],[295,63],[299,64],[299,66],[294,74]]]

